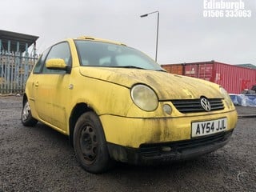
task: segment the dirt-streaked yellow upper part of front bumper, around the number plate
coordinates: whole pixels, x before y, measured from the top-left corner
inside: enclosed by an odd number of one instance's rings
[[[237,123],[236,110],[170,118],[127,118],[110,114],[101,115],[106,142],[138,149],[142,144],[192,140],[191,123],[226,118],[226,131]]]

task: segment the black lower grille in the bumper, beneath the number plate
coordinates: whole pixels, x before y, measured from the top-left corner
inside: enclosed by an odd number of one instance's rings
[[[193,138],[181,142],[165,142],[157,144],[142,144],[139,148],[142,158],[162,158],[165,155],[181,154],[186,150],[193,150],[200,147],[210,146],[214,143],[225,142],[232,134],[233,130],[206,136],[202,138]],[[170,147],[170,152],[164,152],[162,147]]]

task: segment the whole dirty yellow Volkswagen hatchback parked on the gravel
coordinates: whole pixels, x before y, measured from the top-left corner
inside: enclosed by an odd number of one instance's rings
[[[58,42],[26,82],[22,124],[66,134],[82,167],[113,160],[154,164],[194,158],[224,146],[237,112],[221,86],[166,73],[122,43],[81,37]]]

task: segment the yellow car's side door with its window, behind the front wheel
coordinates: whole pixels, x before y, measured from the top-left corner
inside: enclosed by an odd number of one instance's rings
[[[35,106],[39,118],[50,123],[54,128],[66,132],[66,101],[70,96],[70,73],[65,70],[46,68],[47,60],[62,58],[66,65],[71,66],[71,54],[68,42],[60,42],[51,47],[42,67],[42,73],[35,82]]]

